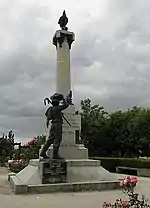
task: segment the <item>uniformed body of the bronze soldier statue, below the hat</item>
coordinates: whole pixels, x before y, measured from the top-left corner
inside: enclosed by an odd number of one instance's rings
[[[60,158],[58,152],[59,152],[59,146],[62,141],[62,124],[63,124],[62,111],[65,110],[68,106],[69,104],[67,100],[63,99],[62,105],[59,104],[53,105],[52,107],[49,107],[45,113],[45,116],[47,117],[47,127],[49,125],[49,121],[51,120],[51,128],[49,131],[48,140],[45,142],[40,154],[43,158],[48,158],[48,156],[46,155],[46,151],[48,150],[51,144],[53,144],[53,158],[54,159]]]

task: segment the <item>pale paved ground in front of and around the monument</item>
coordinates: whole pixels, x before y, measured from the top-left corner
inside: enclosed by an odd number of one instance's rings
[[[118,175],[120,178],[123,175]],[[150,200],[150,178],[141,178],[136,188]],[[7,182],[6,169],[0,169],[0,208],[101,208],[103,201],[126,199],[120,191],[13,195]]]

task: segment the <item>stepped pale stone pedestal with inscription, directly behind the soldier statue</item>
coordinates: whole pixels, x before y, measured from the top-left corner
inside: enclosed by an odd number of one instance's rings
[[[81,116],[75,114],[74,106],[69,106],[63,113],[71,126],[63,120],[62,143],[59,150],[60,155],[65,159],[88,159],[88,149],[83,144],[76,144],[75,132],[76,130],[81,131]],[[53,145],[48,149],[47,155],[52,158]]]

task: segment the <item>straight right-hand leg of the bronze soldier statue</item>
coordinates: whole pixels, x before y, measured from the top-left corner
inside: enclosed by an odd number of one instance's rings
[[[55,139],[53,143],[53,159],[63,159],[59,156],[59,146],[62,141],[62,124],[57,122],[54,124]]]

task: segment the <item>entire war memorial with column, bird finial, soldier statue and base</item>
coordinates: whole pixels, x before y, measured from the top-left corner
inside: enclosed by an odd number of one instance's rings
[[[118,186],[115,175],[105,170],[99,160],[88,159],[88,149],[76,143],[81,116],[76,114],[73,104],[70,76],[70,51],[75,34],[68,30],[67,23],[64,11],[58,21],[60,29],[53,36],[57,52],[56,93],[44,100],[50,104],[45,114],[46,142],[39,159],[30,160],[22,171],[9,175],[15,194],[101,191]]]

